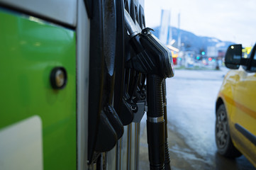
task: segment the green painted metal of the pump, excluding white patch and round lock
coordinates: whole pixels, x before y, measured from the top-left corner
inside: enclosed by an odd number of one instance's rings
[[[50,86],[54,67],[67,70],[65,89]],[[32,115],[43,123],[44,169],[76,169],[74,30],[0,8],[0,130]]]

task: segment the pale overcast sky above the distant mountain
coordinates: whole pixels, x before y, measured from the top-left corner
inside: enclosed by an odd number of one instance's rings
[[[171,11],[171,26],[196,35],[242,43],[256,42],[256,0],[145,0],[147,27],[160,26],[161,10]]]

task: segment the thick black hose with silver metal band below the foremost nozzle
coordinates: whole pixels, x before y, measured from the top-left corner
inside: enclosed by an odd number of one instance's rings
[[[147,133],[150,169],[165,169],[165,120],[162,101],[163,78],[147,76]]]

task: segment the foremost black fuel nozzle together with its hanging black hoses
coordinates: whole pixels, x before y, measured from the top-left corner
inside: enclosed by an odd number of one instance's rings
[[[140,31],[125,10],[126,29],[130,34],[130,45],[136,55],[126,63],[126,67],[135,69],[147,75],[147,133],[150,169],[170,169],[169,152],[165,141],[165,117],[164,110],[165,78],[173,77],[174,70],[172,56],[162,43],[150,31],[145,28]],[[166,98],[165,98],[166,103]],[[165,115],[165,116],[164,116]],[[165,144],[166,143],[166,144]],[[165,154],[167,147],[167,154]],[[166,165],[165,165],[166,163]]]

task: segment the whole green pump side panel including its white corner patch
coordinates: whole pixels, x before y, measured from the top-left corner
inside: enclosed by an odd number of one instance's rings
[[[0,8],[0,169],[77,169],[76,103],[74,30]]]

